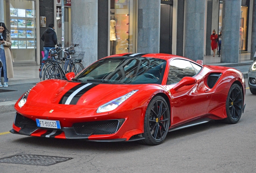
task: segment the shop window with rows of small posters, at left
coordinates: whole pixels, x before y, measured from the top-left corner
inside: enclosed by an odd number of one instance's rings
[[[10,34],[14,63],[36,61],[35,1],[10,0]],[[7,23],[7,22],[6,22]]]

